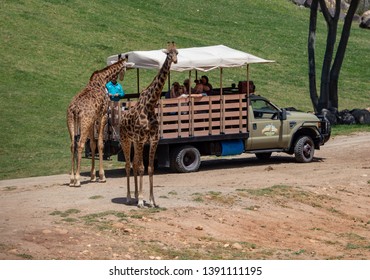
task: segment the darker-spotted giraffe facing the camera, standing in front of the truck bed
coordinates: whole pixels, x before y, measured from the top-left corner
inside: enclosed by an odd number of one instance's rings
[[[144,207],[143,200],[143,149],[146,143],[150,144],[149,149],[149,186],[150,196],[149,205],[157,207],[154,201],[153,192],[153,173],[154,173],[154,155],[157,150],[159,141],[159,122],[155,108],[161,97],[164,83],[167,79],[172,62],[177,63],[177,50],[175,43],[168,44],[167,50],[164,51],[167,57],[159,70],[157,76],[154,77],[151,84],[144,89],[139,97],[138,102],[124,111],[121,115],[120,125],[120,142],[126,160],[126,176],[127,176],[127,202],[131,201],[130,193],[130,169],[131,169],[131,144],[134,146],[134,162],[133,173],[135,180],[135,198],[138,199],[138,207]],[[139,175],[139,192],[137,176]]]

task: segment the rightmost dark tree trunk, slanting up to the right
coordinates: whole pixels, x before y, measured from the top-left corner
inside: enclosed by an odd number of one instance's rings
[[[330,71],[330,84],[329,84],[329,98],[331,106],[338,108],[338,81],[339,73],[343,64],[344,55],[347,48],[348,39],[351,33],[352,19],[357,10],[360,0],[352,0],[349,6],[344,25],[342,29],[342,35],[338,44],[337,53],[334,59],[333,66]]]

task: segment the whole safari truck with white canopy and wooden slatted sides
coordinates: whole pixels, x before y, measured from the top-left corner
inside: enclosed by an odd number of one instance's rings
[[[160,69],[165,60],[161,50],[122,55],[128,55],[131,68],[137,70],[138,92],[140,70]],[[110,56],[107,63],[117,59],[118,55]],[[166,99],[165,93],[162,94],[156,109],[160,123],[156,165],[170,167],[175,172],[194,172],[199,169],[202,156],[254,153],[258,159],[267,160],[273,152],[294,154],[300,163],[311,162],[315,149],[328,141],[330,124],[322,116],[288,111],[254,94],[249,67],[270,62],[273,61],[224,45],[178,49],[178,63],[172,64],[171,71],[187,71],[192,81],[198,71],[219,69],[220,88],[213,89],[209,96],[189,94]],[[238,86],[224,87],[223,69],[231,67],[246,68],[246,79]],[[118,154],[118,160],[124,161],[119,144],[120,117],[135,104],[138,96],[127,94],[118,105],[111,103],[105,157]]]

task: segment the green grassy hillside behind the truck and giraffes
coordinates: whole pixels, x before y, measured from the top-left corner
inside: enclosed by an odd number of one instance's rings
[[[65,112],[71,98],[109,55],[159,49],[167,41],[180,48],[224,44],[275,60],[251,67],[258,93],[281,106],[311,110],[309,11],[289,1],[1,2],[0,179],[67,173]],[[325,31],[321,21],[317,62]],[[369,32],[354,24],[340,77],[341,109],[370,106],[369,46]],[[244,71],[224,73],[226,83],[245,79]],[[146,73],[142,85],[154,75]],[[209,76],[217,86],[218,71]],[[123,85],[135,91],[132,73]]]

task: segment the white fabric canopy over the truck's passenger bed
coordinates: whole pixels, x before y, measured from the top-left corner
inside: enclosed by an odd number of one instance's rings
[[[249,53],[229,48],[224,45],[177,49],[177,64],[172,63],[171,71],[199,70],[207,72],[216,68],[241,67],[252,63],[269,63]],[[160,69],[166,59],[163,50],[131,51],[121,54],[128,55],[128,62],[134,63],[131,68]],[[110,65],[118,60],[118,55],[108,57]]]

